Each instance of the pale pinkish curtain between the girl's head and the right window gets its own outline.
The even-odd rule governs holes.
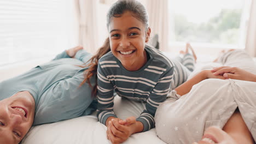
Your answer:
[[[168,1],[141,0],[149,15],[150,37],[159,35],[160,50],[168,50]]]

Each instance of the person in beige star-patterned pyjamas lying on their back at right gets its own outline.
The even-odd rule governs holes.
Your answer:
[[[155,127],[160,139],[186,144],[254,143],[255,62],[241,50],[223,53],[219,62],[225,67],[201,71],[159,106]]]

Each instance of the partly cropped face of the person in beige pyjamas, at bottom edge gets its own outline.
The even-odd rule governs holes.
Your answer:
[[[217,127],[209,127],[206,129],[202,140],[199,142],[194,142],[193,144],[237,144],[237,142],[225,131]]]

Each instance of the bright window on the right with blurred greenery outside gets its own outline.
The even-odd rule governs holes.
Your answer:
[[[250,1],[170,0],[170,45],[245,48]]]

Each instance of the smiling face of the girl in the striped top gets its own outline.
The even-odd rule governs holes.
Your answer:
[[[121,64],[130,71],[143,67],[147,62],[145,43],[148,42],[150,28],[126,11],[121,17],[112,17],[109,27],[110,49]]]

